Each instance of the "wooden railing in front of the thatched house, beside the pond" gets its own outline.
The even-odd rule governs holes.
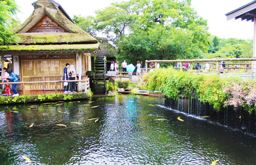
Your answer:
[[[25,84],[42,84],[42,83],[52,83],[54,84],[54,90],[55,93],[57,93],[58,90],[58,83],[63,83],[63,82],[84,82],[85,86],[85,92],[90,90],[90,78],[87,78],[85,80],[67,80],[67,81],[38,81],[38,82],[0,82],[0,85],[5,85],[5,84],[21,84],[22,85],[22,91],[23,94],[25,93]]]

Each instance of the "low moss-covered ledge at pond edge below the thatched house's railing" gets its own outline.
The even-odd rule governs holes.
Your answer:
[[[90,98],[90,92],[68,93],[68,94],[57,93],[57,94],[40,94],[40,95],[21,95],[16,97],[0,97],[0,104],[18,104],[18,103],[87,99],[87,98]]]

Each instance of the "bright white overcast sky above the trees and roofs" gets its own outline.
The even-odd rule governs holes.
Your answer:
[[[33,12],[31,5],[36,0],[16,0],[20,13],[17,17],[24,22]],[[113,2],[120,0],[55,0],[71,18],[74,15],[95,16],[96,10],[104,9]],[[229,20],[227,14],[253,0],[192,0],[192,7],[200,17],[208,21],[209,32],[219,38],[253,38],[253,22],[246,20]],[[99,36],[101,37],[101,36]]]

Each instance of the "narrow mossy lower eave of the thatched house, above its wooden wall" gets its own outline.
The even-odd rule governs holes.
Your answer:
[[[61,44],[61,45],[10,45],[0,46],[0,51],[44,51],[44,50],[97,50],[99,44]]]

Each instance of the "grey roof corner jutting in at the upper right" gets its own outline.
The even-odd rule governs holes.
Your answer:
[[[231,20],[233,18],[246,21],[254,21],[254,16],[256,16],[256,0],[239,7],[238,9],[231,11],[226,14],[227,20]]]

